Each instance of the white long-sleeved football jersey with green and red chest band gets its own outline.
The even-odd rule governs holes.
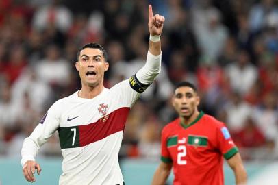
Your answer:
[[[145,65],[138,71],[140,80],[134,75],[110,89],[104,88],[92,99],[80,98],[75,92],[56,101],[25,139],[21,164],[35,160],[38,148],[57,130],[64,158],[60,185],[123,184],[118,151],[125,122],[140,93],[160,72],[161,56],[148,54],[148,58],[153,59],[153,66]]]

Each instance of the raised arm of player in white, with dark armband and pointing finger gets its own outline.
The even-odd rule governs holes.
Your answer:
[[[164,16],[160,16],[159,14],[153,16],[153,10],[151,5],[149,5],[148,27],[150,40],[146,63],[136,74],[131,76],[128,81],[123,81],[123,84],[125,84],[124,86],[121,86],[121,83],[119,83],[113,87],[114,89],[120,89],[116,90],[116,92],[121,92],[119,94],[119,99],[125,101],[124,103],[127,106],[132,106],[140,96],[140,93],[143,93],[160,73],[162,58],[160,35],[162,34],[164,21]],[[133,90],[131,90],[130,87]]]

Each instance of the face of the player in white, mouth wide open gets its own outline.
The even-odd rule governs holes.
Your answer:
[[[97,48],[85,48],[81,50],[78,62],[75,63],[83,85],[94,87],[103,84],[104,72],[109,64],[105,62],[103,52]]]

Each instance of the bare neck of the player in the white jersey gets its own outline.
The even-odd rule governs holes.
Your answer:
[[[78,97],[92,99],[99,95],[104,89],[103,84],[99,84],[98,86],[90,87],[90,86],[82,86],[81,90],[78,92]]]

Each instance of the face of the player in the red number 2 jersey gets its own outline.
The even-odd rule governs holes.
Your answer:
[[[172,98],[172,105],[179,114],[189,119],[192,114],[197,111],[200,98],[197,93],[188,86],[181,86],[175,90]]]

